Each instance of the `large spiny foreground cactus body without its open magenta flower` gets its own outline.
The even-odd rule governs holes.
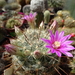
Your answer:
[[[20,73],[22,75],[53,75],[55,71],[53,67],[58,67],[60,58],[55,54],[46,53],[47,48],[44,48],[45,43],[40,38],[49,38],[48,33],[38,29],[27,29],[22,33],[19,28],[16,27],[15,29],[17,39],[10,39],[10,43],[22,53],[18,55],[18,58],[13,57],[15,75],[21,75]],[[21,68],[17,70],[20,66]]]

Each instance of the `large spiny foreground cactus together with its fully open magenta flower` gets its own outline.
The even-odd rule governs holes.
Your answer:
[[[42,27],[43,26],[41,25],[41,28]],[[13,46],[17,46],[17,49],[14,47],[14,49],[16,50],[15,52],[17,52],[17,50],[19,51],[19,53],[15,53],[15,56],[17,59],[14,59],[15,57],[13,58],[14,59],[13,63],[15,64],[16,75],[18,74],[21,75],[21,73],[22,75],[26,75],[26,74],[28,75],[37,75],[37,74],[38,75],[50,75],[52,74],[53,75],[54,71],[59,68],[58,66],[60,62],[59,57],[61,57],[61,54],[59,53],[60,50],[58,50],[58,52],[55,52],[57,50],[55,49],[54,52],[53,50],[51,50],[51,52],[49,51],[49,53],[47,53],[48,51],[47,48],[52,49],[52,47],[46,46],[47,48],[45,48],[44,46],[46,44],[43,41],[48,43],[48,45],[51,45],[50,42],[55,37],[54,39],[56,42],[54,42],[54,44],[56,47],[59,47],[61,44],[65,45],[67,42],[71,44],[72,42],[66,41],[67,39],[69,39],[69,37],[64,36],[64,32],[61,32],[60,34],[57,34],[57,32],[55,34],[52,34],[52,33],[49,34],[49,32],[47,32],[46,30],[42,30],[41,28],[39,27],[39,29],[26,29],[24,30],[24,32],[22,32],[18,27],[15,27],[15,33],[17,35],[17,38],[10,39],[10,43]],[[59,36],[61,34],[62,36]],[[49,40],[42,39],[43,40],[42,41],[40,38],[46,38]],[[57,40],[58,38],[59,39],[62,38],[60,40],[61,44]],[[62,43],[62,40],[64,40],[63,43]],[[54,40],[52,40],[52,42],[53,41]],[[72,47],[69,44],[66,45],[68,46],[66,47],[68,48],[66,51],[70,51],[74,49],[74,47]],[[5,45],[5,49],[7,50],[6,46],[7,45]],[[10,50],[12,48],[8,48],[8,49]],[[71,53],[67,52],[66,55],[72,57]],[[19,67],[21,68],[19,69]]]

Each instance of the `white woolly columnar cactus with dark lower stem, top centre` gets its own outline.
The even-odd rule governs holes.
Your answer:
[[[36,16],[36,27],[38,28],[40,23],[44,21],[43,11],[47,9],[46,0],[31,0],[30,9],[32,12],[37,12]]]

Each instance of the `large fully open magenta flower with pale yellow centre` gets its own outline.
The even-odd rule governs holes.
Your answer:
[[[56,31],[55,34],[50,31],[50,39],[42,38],[42,40],[47,43],[46,48],[50,49],[48,53],[56,53],[59,57],[61,57],[62,54],[73,57],[69,51],[75,48],[71,45],[73,41],[70,41],[70,38],[71,35],[64,36],[64,31],[60,33]]]

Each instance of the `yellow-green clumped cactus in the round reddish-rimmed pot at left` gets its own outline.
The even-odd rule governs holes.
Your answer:
[[[20,20],[14,19],[14,18],[10,18],[10,19],[8,19],[5,27],[7,29],[9,29],[9,28],[14,28],[14,26],[20,26],[20,25],[21,25]]]

